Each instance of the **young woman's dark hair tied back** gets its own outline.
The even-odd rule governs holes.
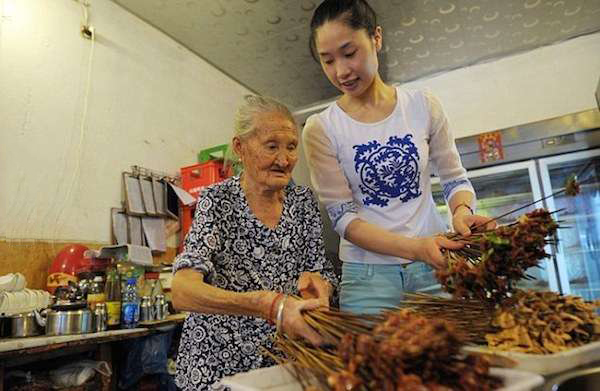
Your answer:
[[[310,54],[319,62],[315,38],[316,31],[325,22],[339,19],[354,30],[365,29],[369,36],[375,34],[377,14],[365,0],[325,0],[313,13],[310,21]]]

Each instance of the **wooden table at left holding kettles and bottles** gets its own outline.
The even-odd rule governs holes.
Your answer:
[[[165,320],[144,324],[135,329],[107,330],[99,333],[77,335],[0,339],[0,391],[4,391],[6,368],[88,351],[95,351],[95,359],[106,361],[111,367],[113,377],[106,390],[114,390],[116,389],[116,371],[113,368],[112,344],[160,332],[166,326],[183,322],[185,317],[186,314],[169,315]]]

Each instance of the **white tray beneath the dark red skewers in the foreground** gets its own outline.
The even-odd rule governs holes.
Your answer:
[[[504,380],[500,391],[529,391],[544,383],[535,373],[514,369],[492,368],[490,373]],[[221,380],[231,391],[303,391],[298,381],[281,365],[238,373]]]

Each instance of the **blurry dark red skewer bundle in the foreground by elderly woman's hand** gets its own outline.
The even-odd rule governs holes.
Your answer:
[[[456,326],[400,309],[380,316],[310,311],[306,321],[330,341],[313,347],[278,336],[277,348],[305,390],[494,390],[489,362],[463,355]]]

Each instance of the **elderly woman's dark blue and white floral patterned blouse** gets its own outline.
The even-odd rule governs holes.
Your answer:
[[[305,271],[335,285],[321,231],[317,202],[307,187],[286,187],[281,218],[271,229],[250,210],[240,178],[232,177],[202,192],[174,272],[192,268],[213,286],[234,292],[297,295]],[[191,313],[177,355],[177,386],[209,390],[224,376],[274,365],[260,353],[261,346],[272,348],[274,332],[262,318]]]

